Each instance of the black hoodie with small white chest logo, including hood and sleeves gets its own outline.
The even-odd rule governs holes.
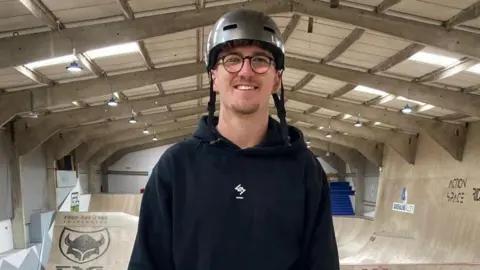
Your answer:
[[[338,270],[325,172],[289,135],[286,147],[269,118],[263,142],[242,150],[203,117],[152,171],[128,269]]]

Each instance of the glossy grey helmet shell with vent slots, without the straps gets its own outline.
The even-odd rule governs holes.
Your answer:
[[[276,23],[262,12],[239,9],[223,15],[210,31],[204,52],[207,70],[213,68],[223,46],[235,40],[257,41],[274,55],[276,68],[284,68],[285,45]]]

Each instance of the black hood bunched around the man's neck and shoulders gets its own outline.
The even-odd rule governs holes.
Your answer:
[[[214,125],[218,124],[218,117],[214,117]],[[280,123],[269,116],[268,127],[265,138],[258,145],[247,149],[241,149],[227,138],[223,137],[215,128],[215,132],[208,126],[208,116],[202,116],[198,123],[197,130],[193,133],[193,137],[200,140],[200,143],[207,143],[211,146],[232,149],[234,151],[242,151],[246,154],[253,155],[278,155],[293,153],[307,149],[303,133],[292,126],[288,126],[288,134],[290,136],[290,146],[287,146],[282,140]]]

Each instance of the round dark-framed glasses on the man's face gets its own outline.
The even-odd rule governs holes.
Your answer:
[[[273,59],[264,55],[240,56],[237,54],[228,54],[220,57],[220,62],[226,71],[230,73],[239,72],[243,68],[245,59],[249,59],[250,67],[255,73],[263,74],[268,71],[272,65]]]

